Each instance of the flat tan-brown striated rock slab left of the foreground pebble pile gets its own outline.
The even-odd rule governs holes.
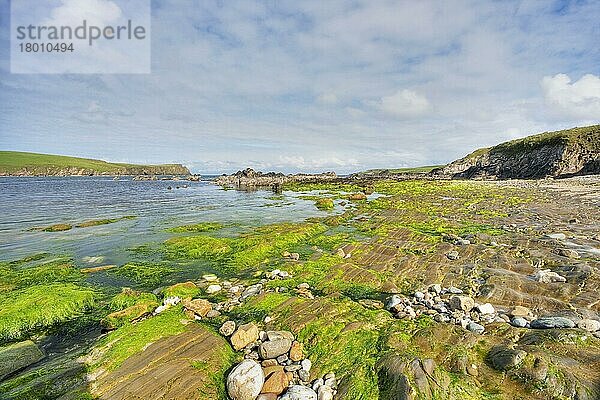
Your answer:
[[[191,400],[218,398],[211,373],[221,370],[229,344],[200,324],[161,339],[127,359],[93,385],[93,394],[110,400]],[[194,368],[192,363],[205,367]]]

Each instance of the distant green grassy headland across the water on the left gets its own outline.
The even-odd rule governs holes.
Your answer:
[[[0,151],[0,175],[189,175],[180,164],[136,165],[88,158]]]

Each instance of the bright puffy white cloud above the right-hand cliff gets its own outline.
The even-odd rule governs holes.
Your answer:
[[[570,117],[600,119],[600,77],[587,74],[571,82],[566,74],[545,76],[542,90],[546,103]]]

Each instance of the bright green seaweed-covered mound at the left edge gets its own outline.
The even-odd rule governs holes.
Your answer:
[[[72,283],[35,285],[0,299],[0,342],[73,319],[94,304],[94,291]]]

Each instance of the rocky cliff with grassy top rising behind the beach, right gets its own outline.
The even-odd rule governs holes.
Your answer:
[[[479,149],[432,174],[469,179],[600,174],[600,125],[546,132]]]

